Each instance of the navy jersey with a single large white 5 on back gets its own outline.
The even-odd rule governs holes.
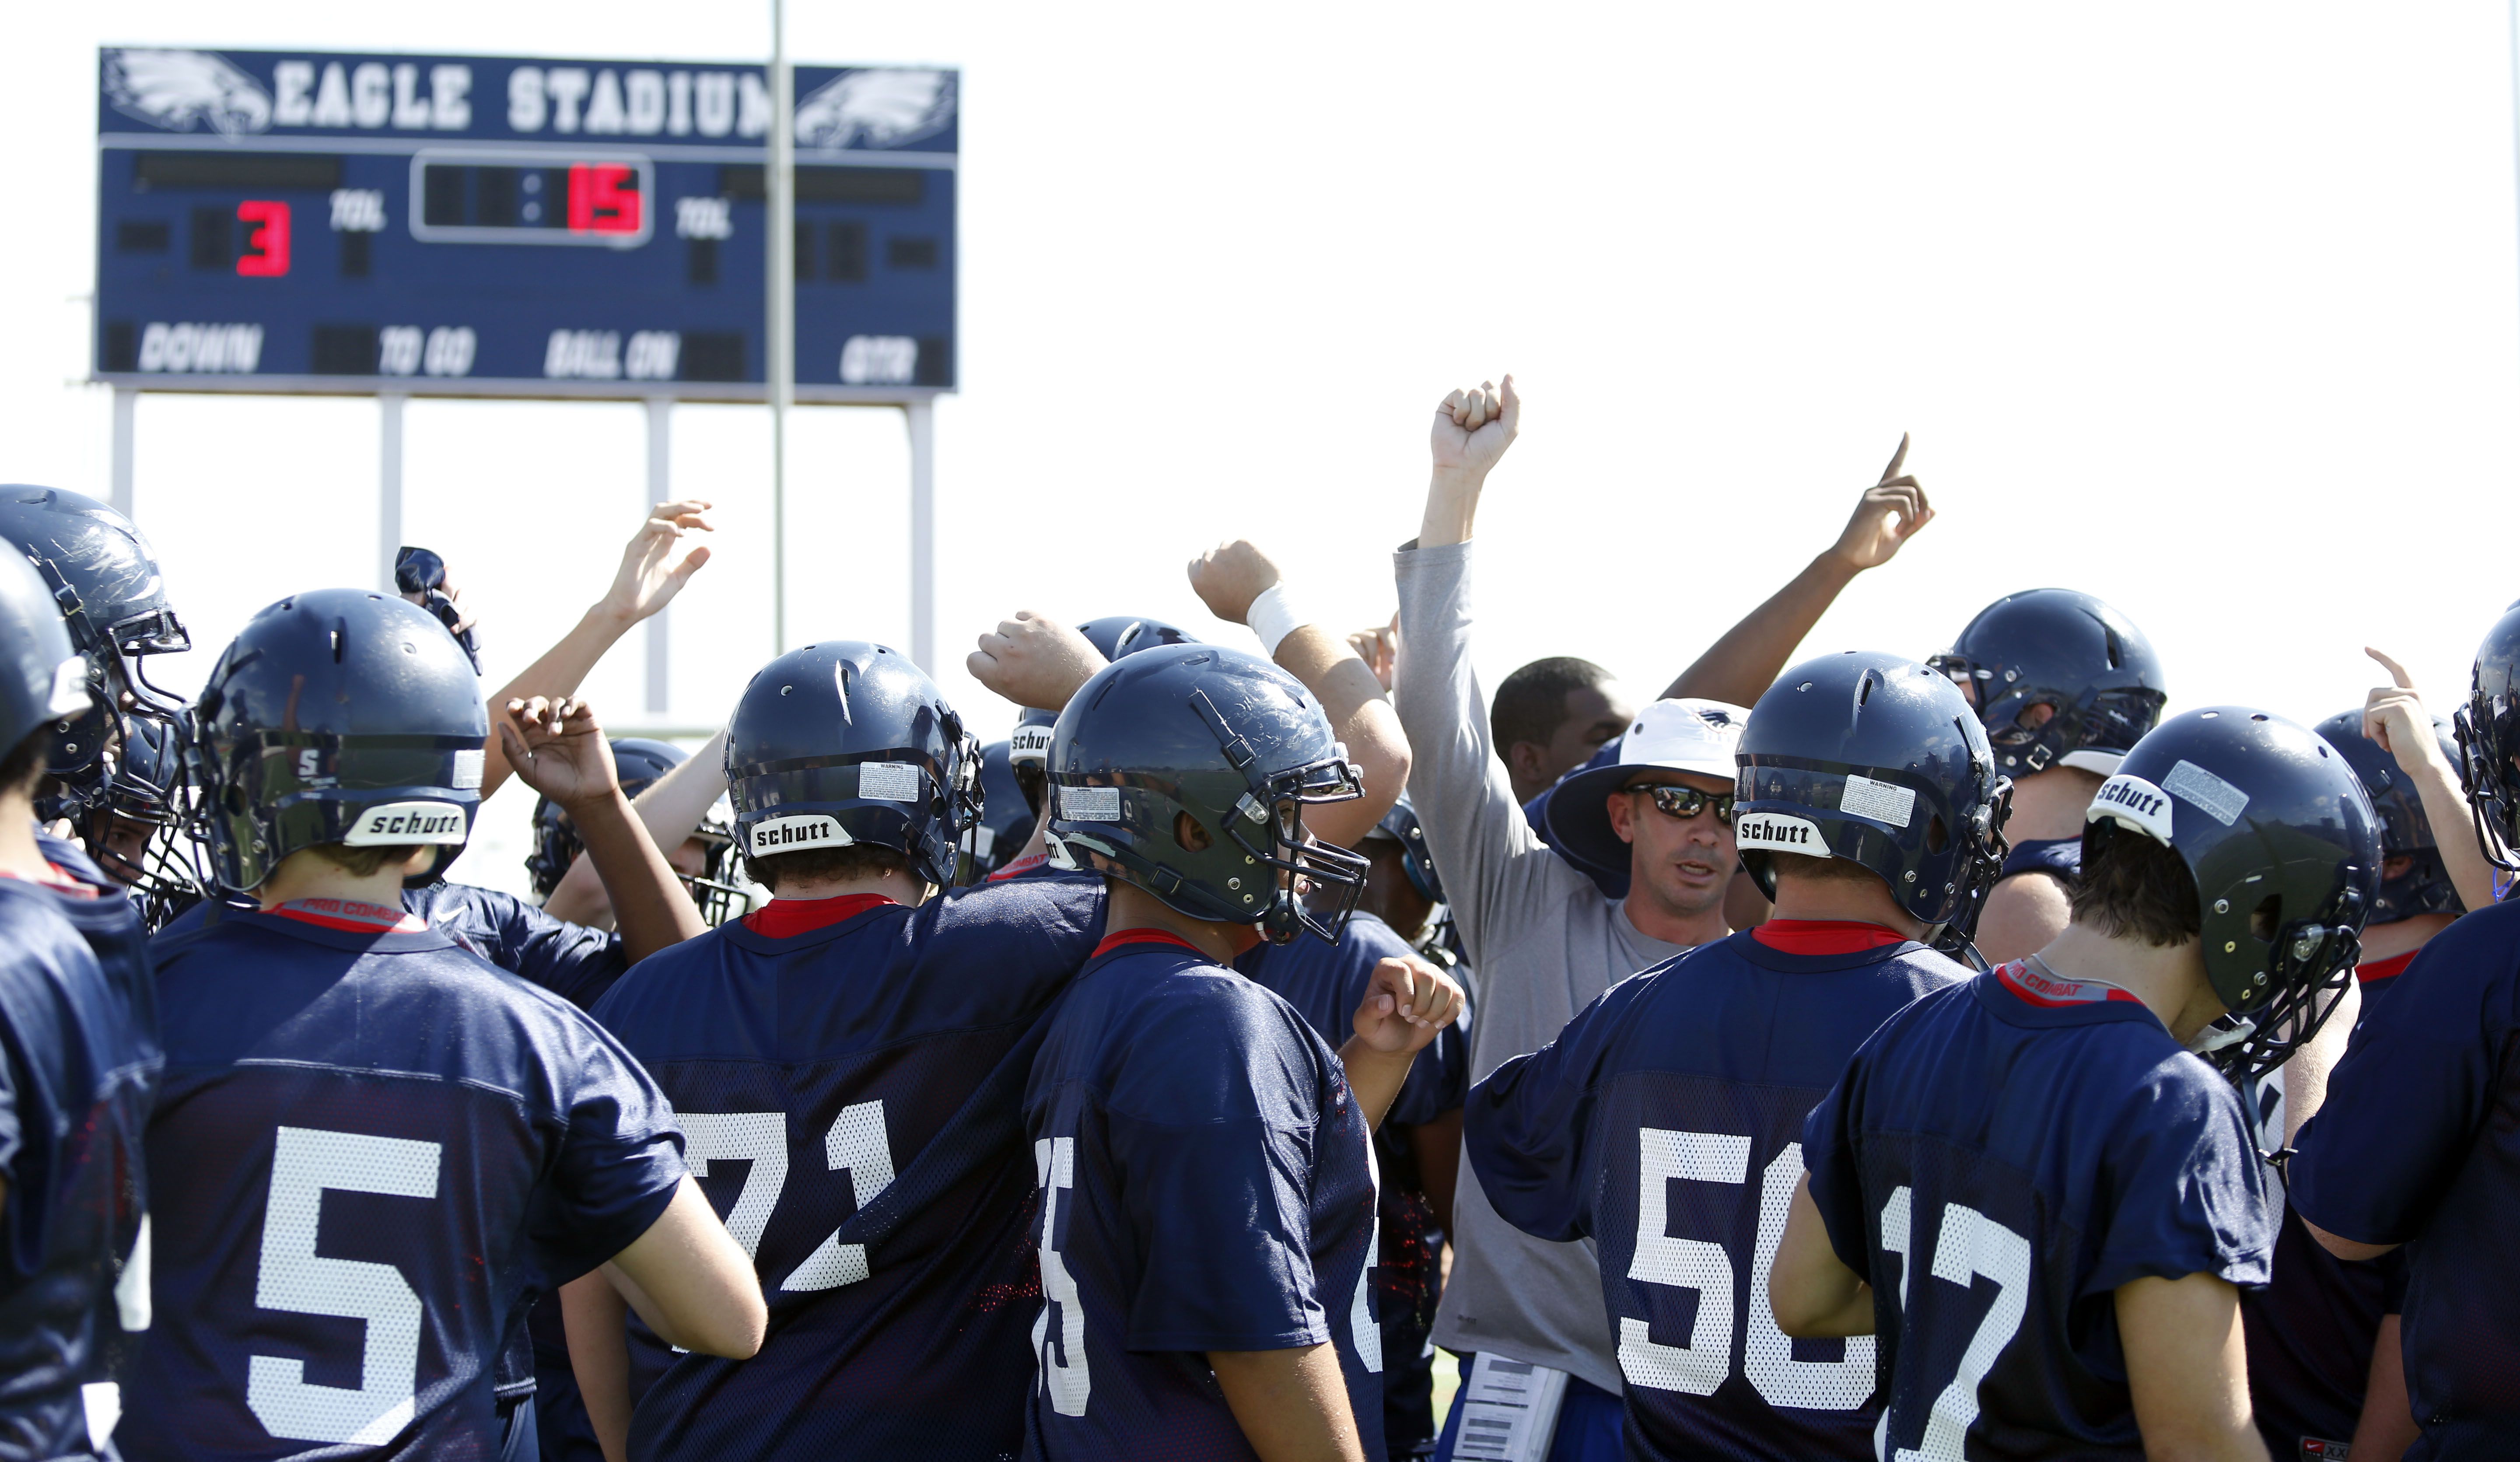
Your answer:
[[[219,910],[159,935],[156,1326],[129,1457],[466,1457],[524,1306],[683,1177],[595,1021],[444,933]]]

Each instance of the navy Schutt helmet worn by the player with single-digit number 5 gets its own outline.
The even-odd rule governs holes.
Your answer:
[[[315,590],[257,613],[194,706],[192,766],[219,887],[292,852],[433,844],[436,877],[481,807],[489,713],[446,625],[396,595]]]

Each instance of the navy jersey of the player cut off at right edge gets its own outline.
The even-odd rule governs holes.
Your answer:
[[[2432,935],[2354,1028],[2291,1165],[2301,1217],[2407,1245],[2407,1457],[2520,1452],[2520,907]]]

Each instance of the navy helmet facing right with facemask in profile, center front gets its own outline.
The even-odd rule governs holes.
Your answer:
[[[1366,860],[1303,829],[1308,802],[1363,776],[1293,676],[1222,645],[1162,645],[1104,665],[1051,731],[1051,862],[1124,877],[1217,923],[1338,943]],[[1205,832],[1184,847],[1179,819]],[[1305,905],[1303,885],[1328,912]]]

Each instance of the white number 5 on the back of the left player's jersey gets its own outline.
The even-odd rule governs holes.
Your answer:
[[[252,1356],[244,1404],[272,1437],[381,1447],[411,1424],[421,1384],[421,1296],[391,1263],[320,1258],[323,1190],[438,1195],[438,1144],[282,1127],[262,1212],[255,1303],[300,1316],[368,1321],[358,1389],[307,1384],[302,1359]]]

